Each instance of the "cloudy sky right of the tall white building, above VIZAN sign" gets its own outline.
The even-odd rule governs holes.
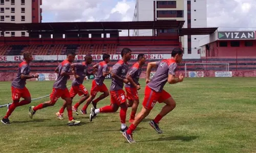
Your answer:
[[[249,27],[255,30],[255,10],[255,0],[208,0],[207,25],[225,31],[252,30]]]

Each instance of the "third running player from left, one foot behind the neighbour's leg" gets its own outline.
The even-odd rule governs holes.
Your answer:
[[[95,71],[93,71],[92,73],[88,72],[88,67],[89,67],[90,64],[92,64],[93,57],[91,55],[87,55],[84,58],[84,61],[85,62],[71,64],[71,67],[73,69],[73,73],[75,75],[75,79],[72,82],[72,87],[70,89],[70,96],[73,99],[76,96],[76,94],[78,94],[79,96],[82,95],[81,99],[72,107],[72,110],[76,113],[76,115],[78,115],[78,112],[77,112],[78,107],[86,99],[88,99],[90,97],[89,92],[82,85],[83,80],[86,76],[90,76],[90,75],[93,75],[95,73]],[[63,112],[66,108],[66,105],[67,104],[66,104],[66,101],[65,101],[63,103],[63,106],[59,110],[59,112],[56,113],[56,115],[58,116],[58,118],[60,120],[63,119]]]

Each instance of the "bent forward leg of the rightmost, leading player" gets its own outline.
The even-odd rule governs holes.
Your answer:
[[[162,133],[162,130],[159,127],[159,121],[170,111],[172,111],[176,107],[176,102],[173,99],[172,96],[170,96],[169,93],[167,93],[165,90],[162,91],[161,96],[159,98],[159,103],[164,103],[166,104],[161,112],[155,117],[154,120],[150,122],[150,125],[159,133]]]

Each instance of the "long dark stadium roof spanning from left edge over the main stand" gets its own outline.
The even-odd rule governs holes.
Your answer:
[[[0,31],[181,29],[185,21],[0,23]]]

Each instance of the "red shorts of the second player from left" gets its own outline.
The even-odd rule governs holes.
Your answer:
[[[50,95],[50,99],[52,102],[56,103],[56,101],[61,97],[62,99],[64,98],[70,98],[69,90],[68,88],[66,89],[52,89],[52,93]]]

